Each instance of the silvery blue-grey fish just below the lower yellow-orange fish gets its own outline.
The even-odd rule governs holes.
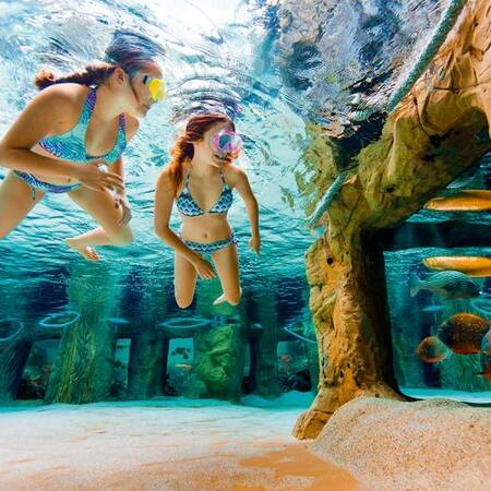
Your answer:
[[[458,271],[442,271],[427,279],[420,279],[414,275],[409,283],[409,290],[411,297],[420,290],[429,290],[446,300],[476,298],[481,295],[479,285]]]

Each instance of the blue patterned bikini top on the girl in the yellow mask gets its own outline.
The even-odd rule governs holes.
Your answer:
[[[39,146],[50,154],[63,158],[64,160],[88,163],[91,160],[106,160],[107,164],[113,164],[123,153],[127,146],[127,136],[124,131],[124,115],[118,117],[118,136],[115,146],[106,155],[93,157],[85,151],[85,133],[96,103],[97,87],[92,87],[82,108],[79,122],[70,131],[55,136],[47,136],[39,140]]]

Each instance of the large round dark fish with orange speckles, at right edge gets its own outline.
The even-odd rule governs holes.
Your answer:
[[[458,355],[481,351],[482,337],[491,327],[491,322],[476,314],[458,313],[442,323],[436,337]]]

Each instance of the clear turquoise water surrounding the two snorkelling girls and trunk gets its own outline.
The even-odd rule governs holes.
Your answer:
[[[117,28],[144,33],[161,46],[168,85],[167,101],[152,109],[125,154],[134,243],[104,248],[99,264],[76,256],[64,239],[94,224],[56,194],[0,241],[0,399],[85,403],[183,395],[239,400],[251,394],[266,399],[294,391],[316,394],[328,360],[320,361],[304,254],[316,240],[308,216],[325,192],[312,185],[323,152],[330,152],[321,129],[349,137],[352,108],[388,98],[445,4],[369,2],[357,12],[346,2],[327,3],[306,2],[297,15],[295,2],[287,0],[168,1],[165,12],[157,1],[82,2],[76,12],[65,1],[0,2],[0,134],[34,96],[34,73],[43,67],[71,71],[100,58]],[[218,279],[199,282],[195,300],[182,311],[173,299],[172,250],[153,231],[154,190],[187,115],[211,109],[233,117],[244,142],[239,165],[260,203],[262,252],[255,258],[247,249],[248,215],[237,200],[229,220],[239,239],[242,301],[236,308],[213,307]],[[380,121],[363,127],[349,141],[347,155],[379,132]],[[488,157],[475,168],[474,185],[489,189],[490,171]],[[0,167],[0,179],[5,176]],[[458,182],[447,191],[455,189]],[[486,227],[490,215],[423,209],[407,223],[447,219],[464,228]],[[175,209],[171,227],[178,224]],[[470,301],[412,298],[408,279],[416,270],[430,274],[421,270],[428,255],[489,258],[491,250],[441,248],[438,233],[424,247],[410,235],[400,240],[404,246],[385,253],[397,383],[416,396],[418,388],[421,396],[431,388],[435,395],[459,391],[462,400],[489,402],[491,382],[478,374],[478,354],[436,364],[416,356],[421,339],[434,335],[446,318],[489,312],[489,277],[477,280],[483,290],[479,311]],[[438,309],[424,311],[432,306]],[[63,360],[69,352],[84,359],[87,346],[96,352],[91,391],[84,392],[82,381],[63,387],[70,370],[85,376],[80,362],[72,360],[69,369]],[[214,388],[203,393],[206,376]]]

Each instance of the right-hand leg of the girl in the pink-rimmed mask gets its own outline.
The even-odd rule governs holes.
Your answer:
[[[224,249],[219,249],[212,253],[213,262],[220,278],[221,289],[224,290],[213,304],[228,301],[232,306],[238,306],[242,289],[239,279],[239,258],[237,254],[237,246],[230,243]]]

